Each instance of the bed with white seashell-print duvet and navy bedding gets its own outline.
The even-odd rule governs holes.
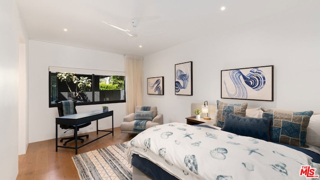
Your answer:
[[[216,109],[218,116],[218,102]],[[221,124],[217,126],[217,118],[214,123],[210,121],[200,125],[166,123],[137,134],[127,143],[125,151],[128,161],[133,165],[133,179],[318,179],[320,148],[318,139],[312,136],[312,131],[319,130],[319,126],[314,124],[314,121],[318,123],[318,117],[312,120],[310,117],[313,112],[310,115],[309,111],[293,113],[303,116],[299,123],[302,127],[305,126],[305,119],[312,124],[308,129],[300,129],[299,135],[304,140],[292,137],[287,141],[290,135],[282,138],[280,134],[280,142],[274,142],[274,138],[278,137],[272,135],[278,129],[276,121],[279,119],[276,116],[285,116],[287,112],[254,108],[251,112],[254,111],[255,115],[252,115],[248,109],[245,107],[246,113],[242,115],[223,112],[222,127]],[[245,117],[246,114],[257,117]],[[267,117],[268,114],[273,117]],[[268,124],[261,125],[261,121]],[[242,125],[241,128],[245,130],[237,132],[239,128],[234,130],[231,122],[236,127]],[[280,129],[285,130],[284,127]],[[311,144],[304,134],[307,130],[310,131]]]

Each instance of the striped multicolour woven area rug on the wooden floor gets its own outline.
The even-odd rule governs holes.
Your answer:
[[[72,156],[81,180],[132,179],[132,167],[123,154],[126,142]]]

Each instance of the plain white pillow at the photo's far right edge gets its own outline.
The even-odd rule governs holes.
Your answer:
[[[320,147],[320,114],[310,117],[309,125],[306,127],[306,143]]]

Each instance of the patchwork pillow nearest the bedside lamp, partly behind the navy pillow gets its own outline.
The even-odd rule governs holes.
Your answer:
[[[224,122],[224,114],[229,112],[235,115],[245,116],[245,110],[248,103],[244,102],[241,104],[228,104],[220,100],[216,100],[216,126],[222,127]]]

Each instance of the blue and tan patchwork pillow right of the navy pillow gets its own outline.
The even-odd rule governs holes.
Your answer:
[[[270,117],[271,141],[296,146],[305,145],[306,128],[309,124],[312,110],[303,112],[282,111],[261,107],[262,117]]]

